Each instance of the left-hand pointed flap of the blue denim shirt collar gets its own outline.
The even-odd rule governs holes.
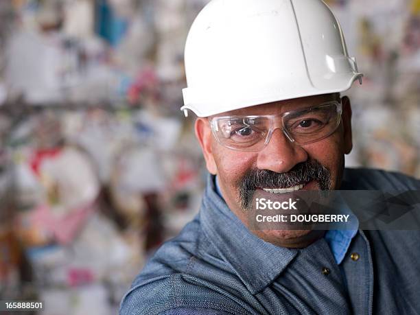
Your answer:
[[[253,235],[218,195],[213,175],[207,178],[200,221],[204,233],[252,294],[274,281],[299,252]]]

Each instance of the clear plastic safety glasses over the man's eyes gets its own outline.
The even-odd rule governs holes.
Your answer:
[[[330,101],[281,115],[225,116],[209,119],[215,139],[238,151],[264,150],[276,129],[298,145],[320,141],[340,125],[342,104]]]

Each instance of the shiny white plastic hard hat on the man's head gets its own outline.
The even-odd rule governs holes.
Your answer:
[[[213,0],[185,45],[184,106],[198,117],[362,83],[321,0]]]

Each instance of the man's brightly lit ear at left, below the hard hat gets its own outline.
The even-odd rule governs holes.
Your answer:
[[[200,143],[202,154],[206,160],[207,170],[210,174],[217,174],[218,168],[216,167],[214,156],[213,156],[213,135],[211,134],[211,128],[209,126],[209,121],[206,118],[197,118],[196,119],[196,137]]]

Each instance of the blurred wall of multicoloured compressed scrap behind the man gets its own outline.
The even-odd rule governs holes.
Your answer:
[[[1,300],[116,314],[194,218],[207,173],[179,108],[207,2],[0,1]],[[420,178],[420,0],[327,2],[366,74],[347,166]]]

